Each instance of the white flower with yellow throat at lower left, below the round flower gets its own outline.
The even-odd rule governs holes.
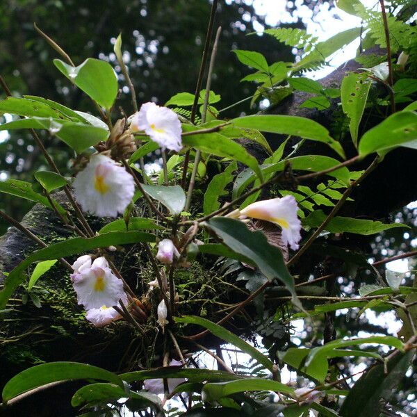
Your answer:
[[[84,268],[71,278],[78,302],[86,310],[115,306],[120,299],[126,300],[122,280],[113,275],[102,256],[92,263],[91,268]]]

